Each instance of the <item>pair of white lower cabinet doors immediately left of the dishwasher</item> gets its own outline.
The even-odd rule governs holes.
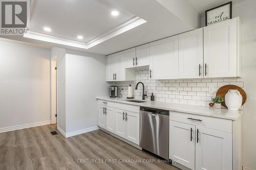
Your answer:
[[[116,109],[115,134],[131,142],[139,144],[140,114]]]

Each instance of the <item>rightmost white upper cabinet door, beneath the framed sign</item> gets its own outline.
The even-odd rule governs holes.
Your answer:
[[[239,77],[239,18],[204,27],[204,77]]]

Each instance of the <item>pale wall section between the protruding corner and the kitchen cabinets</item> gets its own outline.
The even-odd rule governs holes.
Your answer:
[[[108,95],[105,56],[67,51],[66,133],[97,126],[96,96]]]

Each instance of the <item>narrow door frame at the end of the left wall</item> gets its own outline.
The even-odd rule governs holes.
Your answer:
[[[57,118],[57,72],[55,75],[55,67],[57,67],[57,55],[51,58],[51,124],[56,124]],[[57,71],[57,70],[56,70]]]

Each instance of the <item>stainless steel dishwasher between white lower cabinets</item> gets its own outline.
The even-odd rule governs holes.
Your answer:
[[[169,159],[169,111],[140,108],[140,147]]]

